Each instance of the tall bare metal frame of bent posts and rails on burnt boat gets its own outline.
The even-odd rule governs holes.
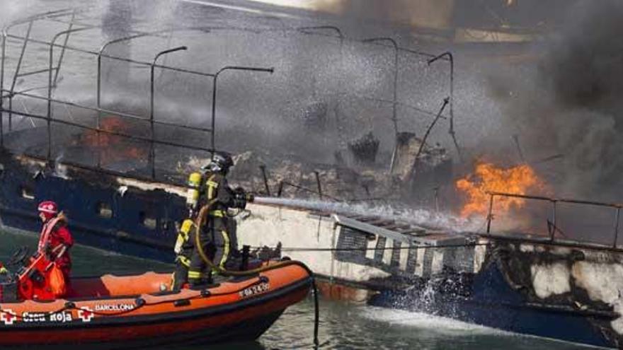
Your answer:
[[[125,137],[127,139],[133,139],[136,141],[144,141],[144,142],[149,142],[150,146],[150,153],[149,153],[149,165],[151,168],[151,172],[152,172],[152,179],[155,179],[156,177],[156,170],[155,170],[155,155],[154,155],[154,144],[155,145],[164,145],[164,146],[176,146],[176,147],[181,147],[181,148],[185,148],[185,149],[189,149],[189,150],[195,150],[195,151],[205,151],[205,152],[214,152],[216,145],[215,145],[215,132],[216,132],[216,128],[215,128],[215,104],[216,104],[216,81],[217,81],[217,76],[221,71],[224,71],[226,69],[237,69],[237,70],[248,70],[248,71],[270,71],[272,72],[272,69],[268,69],[268,68],[263,68],[263,67],[241,67],[241,66],[225,66],[223,69],[217,71],[217,73],[210,73],[210,72],[205,72],[205,71],[196,71],[193,69],[185,69],[185,68],[180,68],[180,67],[175,67],[175,66],[168,66],[166,64],[157,64],[156,59],[157,57],[159,57],[160,54],[163,53],[168,53],[168,52],[173,52],[176,51],[177,49],[182,49],[182,47],[178,47],[176,49],[168,49],[165,50],[165,52],[160,52],[158,55],[156,55],[156,57],[154,57],[154,60],[152,62],[144,62],[144,61],[140,61],[137,59],[131,59],[128,57],[118,57],[115,56],[113,54],[108,54],[106,53],[106,48],[109,47],[110,45],[113,45],[115,43],[119,43],[119,42],[129,42],[130,40],[135,40],[139,37],[164,37],[164,35],[171,35],[171,33],[173,32],[178,32],[178,31],[184,31],[184,30],[190,30],[190,31],[200,31],[200,32],[204,32],[204,33],[211,33],[211,32],[215,32],[215,31],[231,31],[231,30],[238,30],[238,31],[244,31],[244,32],[248,32],[248,33],[267,33],[267,32],[278,32],[278,31],[282,31],[282,33],[284,33],[284,35],[288,35],[290,33],[295,33],[298,35],[319,35],[319,36],[326,36],[326,37],[332,37],[332,38],[337,38],[339,40],[339,50],[340,50],[340,57],[343,56],[342,52],[343,52],[343,45],[345,42],[352,42],[352,43],[357,43],[359,45],[377,45],[377,46],[382,46],[382,47],[391,47],[392,49],[395,50],[396,52],[396,59],[394,60],[394,77],[396,76],[396,71],[397,71],[397,64],[398,64],[398,58],[397,58],[397,53],[398,52],[404,52],[406,54],[411,54],[411,55],[416,55],[418,57],[422,57],[425,60],[430,60],[430,59],[442,59],[442,60],[447,60],[448,62],[452,63],[451,59],[448,59],[447,57],[449,55],[447,54],[442,54],[441,56],[436,56],[435,54],[429,54],[427,52],[421,52],[418,51],[416,49],[408,49],[408,48],[404,48],[404,47],[399,47],[399,45],[397,45],[397,43],[394,40],[386,40],[387,38],[372,38],[372,39],[353,39],[353,38],[349,38],[349,37],[345,37],[345,35],[343,35],[342,31],[340,30],[340,28],[336,27],[336,26],[332,26],[332,25],[317,25],[317,26],[305,26],[305,27],[295,27],[295,28],[289,28],[285,26],[285,23],[282,23],[282,28],[245,28],[245,27],[236,27],[236,26],[229,26],[229,25],[224,25],[224,26],[195,26],[195,27],[176,27],[176,28],[168,28],[168,29],[164,29],[164,30],[154,30],[154,31],[144,31],[144,30],[135,30],[134,28],[128,29],[127,30],[127,35],[123,36],[123,37],[116,37],[112,40],[108,40],[107,42],[104,42],[100,49],[98,50],[93,50],[93,49],[85,49],[83,47],[77,47],[75,45],[70,45],[69,44],[69,37],[74,34],[74,33],[78,33],[78,32],[86,32],[88,30],[96,30],[96,29],[101,29],[102,25],[99,24],[93,24],[90,23],[88,21],[88,19],[83,19],[81,18],[81,10],[76,10],[76,9],[64,9],[64,10],[59,10],[59,11],[51,11],[51,12],[47,12],[47,13],[42,13],[39,15],[35,15],[35,16],[30,16],[28,18],[23,18],[21,20],[18,21],[14,21],[12,23],[9,23],[8,25],[6,25],[3,29],[2,29],[2,33],[1,33],[1,65],[0,65],[0,147],[4,147],[4,127],[5,127],[5,114],[8,116],[8,131],[11,132],[12,128],[13,128],[13,115],[19,115],[21,117],[29,117],[32,119],[40,119],[43,120],[46,124],[47,124],[47,154],[46,154],[46,158],[48,162],[51,162],[53,160],[53,155],[52,155],[52,124],[64,124],[67,125],[69,127],[78,127],[81,129],[86,129],[86,130],[90,130],[92,132],[96,132],[98,139],[100,139],[101,134],[110,134],[113,136],[119,136],[119,137]],[[88,18],[88,17],[85,17]],[[36,21],[52,21],[55,23],[59,23],[60,25],[66,25],[66,29],[59,31],[58,33],[55,33],[55,35],[53,35],[51,40],[42,40],[40,38],[35,38],[35,37],[31,37],[31,29],[33,28],[33,23],[35,23]],[[28,28],[25,30],[25,34],[15,34],[12,33],[11,30],[13,28],[15,28],[18,25],[28,25]],[[381,40],[382,39],[382,40]],[[17,64],[15,66],[15,71],[14,74],[11,78],[11,82],[10,85],[7,86],[5,88],[4,86],[4,79],[5,79],[5,75],[6,75],[6,47],[7,47],[7,41],[8,40],[21,40],[21,52],[18,56],[17,59]],[[391,42],[392,45],[387,45],[387,42]],[[23,58],[26,52],[26,46],[29,44],[37,44],[37,45],[44,45],[46,47],[48,47],[49,49],[49,54],[48,54],[48,62],[47,62],[47,67],[43,68],[43,67],[38,67],[38,69],[35,69],[33,71],[22,71],[23,70]],[[59,52],[55,53],[55,50],[59,50]],[[91,57],[96,57],[97,59],[97,90],[96,90],[96,106],[92,107],[92,106],[88,106],[88,105],[84,105],[84,104],[80,104],[80,103],[76,103],[74,101],[69,101],[69,100],[62,100],[60,98],[55,98],[54,97],[54,92],[55,89],[57,88],[57,83],[59,80],[59,71],[61,71],[62,69],[62,63],[64,60],[64,57],[66,56],[66,52],[67,51],[73,51],[73,52],[79,52],[81,54],[87,54],[90,55]],[[56,58],[55,58],[56,56]],[[113,60],[115,62],[125,62],[125,63],[129,63],[129,64],[135,64],[135,65],[139,65],[139,66],[148,66],[151,67],[152,70],[152,93],[150,95],[150,99],[152,100],[151,103],[151,110],[149,113],[149,117],[144,117],[144,116],[140,116],[140,115],[135,115],[135,114],[131,114],[131,113],[125,113],[125,112],[119,112],[119,111],[115,111],[112,110],[110,108],[104,108],[101,104],[101,94],[102,94],[102,86],[101,86],[101,80],[102,80],[102,67],[101,67],[101,59],[102,58],[106,58],[106,59],[110,59]],[[340,59],[341,61],[343,60],[343,58]],[[338,64],[340,66],[343,65],[343,62],[338,62]],[[206,118],[207,119],[207,123],[208,125],[210,125],[210,127],[196,127],[196,126],[188,126],[188,125],[184,125],[184,124],[178,124],[175,122],[164,122],[164,121],[160,121],[157,119],[154,119],[154,110],[153,110],[153,98],[154,98],[154,88],[153,88],[153,84],[154,84],[154,73],[153,70],[154,68],[158,68],[158,69],[163,69],[163,70],[169,70],[169,71],[175,71],[175,72],[179,72],[179,73],[183,73],[183,74],[190,74],[193,76],[198,76],[200,78],[207,78],[208,81],[212,81],[212,115],[210,115],[210,117]],[[388,67],[389,69],[390,67]],[[450,65],[450,72],[451,72],[451,76],[450,76],[450,83],[452,85],[452,64]],[[21,91],[16,91],[16,81],[18,80],[18,78],[25,78],[25,77],[32,77],[32,76],[36,76],[38,74],[47,74],[47,84],[45,86],[35,86],[35,87],[30,87],[30,88],[25,88]],[[395,80],[395,79],[394,79]],[[38,95],[35,92],[38,90],[47,90],[47,96],[43,96],[43,95]],[[346,89],[341,86],[341,90],[345,91]],[[450,93],[452,93],[452,86],[450,86]],[[412,107],[409,106],[406,103],[401,103],[399,101],[396,100],[396,83],[394,81],[394,98],[392,98],[391,100],[382,100],[382,99],[377,99],[377,102],[382,102],[382,103],[387,103],[389,105],[391,105],[394,109],[394,115],[391,118],[391,122],[394,124],[394,129],[397,130],[397,126],[396,126],[396,105],[401,105],[404,107],[411,107],[412,110],[415,110],[416,112],[422,112],[421,109],[419,109],[418,107]],[[41,100],[42,103],[46,103],[47,107],[46,107],[46,112],[45,114],[40,114],[40,113],[35,113],[35,112],[30,112],[28,110],[26,110],[24,108],[24,110],[17,110],[16,108],[13,107],[13,103],[15,103],[15,101],[18,98],[22,98],[22,99],[36,99],[36,100]],[[360,96],[357,96],[357,98],[361,98]],[[451,100],[452,101],[452,100]],[[22,103],[23,105],[23,100],[20,101],[20,103]],[[451,102],[452,103],[452,102]],[[96,118],[97,118],[97,122],[96,125],[93,127],[91,125],[85,125],[85,124],[80,124],[74,121],[69,121],[66,119],[62,119],[62,118],[57,118],[55,117],[54,114],[54,108],[53,105],[61,105],[64,108],[68,108],[68,107],[75,107],[75,108],[80,108],[83,110],[88,110],[91,112],[96,112]],[[452,110],[452,107],[451,107]],[[115,131],[111,131],[111,130],[107,130],[103,127],[101,127],[101,116],[102,115],[115,115],[118,117],[122,117],[124,119],[132,119],[132,120],[139,120],[139,121],[144,121],[144,122],[149,122],[150,124],[150,129],[151,129],[151,133],[149,134],[149,136],[137,136],[137,135],[132,135],[132,134],[126,134],[123,132],[115,132]],[[433,115],[432,112],[429,112],[428,114],[425,113],[425,115]],[[452,115],[450,116],[451,118],[453,117]],[[190,129],[193,130],[195,132],[203,132],[206,133],[207,136],[210,138],[210,142],[206,143],[206,144],[210,144],[210,146],[196,146],[196,145],[188,145],[188,144],[183,144],[183,143],[178,143],[178,142],[174,142],[174,141],[164,141],[164,140],[159,140],[155,137],[155,133],[154,133],[154,126],[155,125],[159,125],[159,126],[163,126],[163,127],[173,127],[173,128],[181,128],[181,129]],[[339,127],[338,127],[338,131],[339,131]],[[453,132],[453,131],[452,131]],[[101,155],[98,154],[98,162],[96,165],[96,168],[101,168]]]

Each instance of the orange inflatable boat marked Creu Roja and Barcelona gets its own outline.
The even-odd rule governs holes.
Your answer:
[[[130,349],[258,338],[313,281],[300,262],[205,288],[163,291],[171,274],[78,278],[67,298],[0,303],[0,348]]]

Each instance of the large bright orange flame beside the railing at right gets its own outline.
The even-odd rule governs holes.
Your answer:
[[[513,168],[501,168],[492,163],[479,161],[474,174],[456,182],[459,192],[467,196],[467,202],[461,209],[461,216],[488,214],[490,196],[488,192],[527,194],[530,190],[543,190],[545,183],[539,179],[530,165],[517,165]],[[494,202],[496,213],[508,212],[525,205],[525,199],[496,197]]]

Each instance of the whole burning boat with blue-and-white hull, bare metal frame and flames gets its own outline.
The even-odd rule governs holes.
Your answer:
[[[183,180],[189,168],[194,170],[202,165],[202,159],[215,149],[214,113],[211,127],[156,119],[153,85],[152,103],[147,109],[149,118],[104,108],[101,60],[147,67],[152,72],[152,83],[154,68],[210,78],[214,96],[217,76],[222,70],[212,74],[179,69],[157,64],[159,56],[146,62],[106,52],[109,44],[137,37],[159,37],[166,30],[147,33],[132,29],[126,36],[105,42],[99,50],[80,49],[70,44],[69,37],[95,28],[93,23],[83,22],[87,19],[88,16],[75,11],[55,11],[13,23],[21,26],[23,35],[13,34],[11,26],[3,32],[3,57],[6,47],[11,45],[21,54],[14,57],[10,87],[1,88],[0,126],[7,127],[0,133],[1,221],[8,228],[36,232],[35,205],[40,199],[52,198],[72,216],[72,231],[79,243],[172,262],[176,223],[186,214]],[[40,21],[65,27],[53,40],[42,42],[30,37],[33,23]],[[248,30],[182,29],[200,33]],[[310,35],[310,30],[331,30],[338,35],[332,39],[348,40],[339,28],[333,27],[283,31]],[[47,68],[22,70],[28,42],[44,45],[49,50]],[[370,40],[365,44],[371,45]],[[181,51],[184,47],[174,49],[165,51]],[[401,48],[396,46],[398,49]],[[98,62],[95,106],[54,97],[59,85],[58,72],[66,52],[70,51],[91,55]],[[6,61],[3,59],[3,81]],[[251,66],[223,69],[227,68],[272,71],[268,67]],[[44,94],[33,93],[30,88],[16,90],[19,79],[38,74],[47,78],[43,79]],[[37,88],[35,84],[32,89]],[[211,102],[215,105],[214,97]],[[382,211],[378,206],[361,204],[375,202],[378,197],[385,201],[390,192],[401,194],[399,199],[405,202],[425,197],[424,192],[433,192],[435,196],[429,204],[436,202],[439,182],[452,178],[452,162],[444,148],[430,145],[427,136],[435,122],[443,117],[447,103],[452,103],[452,99],[442,103],[440,112],[427,112],[434,119],[426,123],[425,132],[418,132],[423,137],[399,132],[397,127],[390,130],[395,143],[389,151],[379,150],[374,127],[372,134],[361,132],[349,138],[341,135],[343,147],[333,154],[331,165],[310,165],[287,157],[271,161],[261,153],[238,152],[239,174],[232,174],[232,180],[263,195],[256,204],[248,206],[248,211],[237,216],[236,230],[241,243],[256,248],[256,253],[263,257],[288,255],[305,262],[323,282],[324,293],[335,298],[423,310],[542,337],[620,347],[623,329],[619,308],[623,287],[612,281],[618,281],[623,263],[617,241],[621,205],[530,196],[528,189],[547,193],[530,167],[501,169],[486,164],[476,168],[474,176],[479,180],[474,182],[468,177],[456,184],[469,197],[462,214],[484,214],[482,226],[472,230],[452,228],[452,222],[441,222],[438,214],[430,212]],[[390,100],[389,105],[395,109],[398,104]],[[339,110],[339,105],[332,107]],[[76,113],[79,110],[82,113]],[[329,110],[327,105],[312,101],[302,113],[302,124],[326,131]],[[76,114],[81,118],[86,115],[90,122],[77,122],[80,118]],[[341,116],[340,112],[335,114]],[[445,118],[452,120],[452,115]],[[33,124],[40,121],[40,124],[12,129],[13,119]],[[395,118],[389,120],[396,125]],[[162,132],[166,128],[186,132]],[[224,133],[219,137],[233,136]],[[211,140],[210,146],[204,146],[206,139]],[[318,144],[322,142],[318,139]],[[181,148],[192,156],[185,155],[179,169],[166,168],[164,164],[178,164],[181,158],[171,148]],[[383,171],[375,169],[379,158],[384,160],[384,166],[389,165]],[[413,180],[414,175],[418,176],[417,181]],[[492,180],[495,185],[491,185]],[[521,181],[517,184],[514,180]],[[488,185],[483,188],[478,182]],[[283,197],[317,197],[318,201]],[[332,202],[327,204],[327,199]],[[532,207],[535,209],[529,209],[531,206],[526,203],[530,201],[547,204],[547,208],[537,204]],[[606,243],[593,242],[590,236],[566,237],[560,218],[565,205],[610,211],[615,216],[612,240]],[[513,225],[517,218],[505,221],[505,214],[516,209],[541,214],[537,226],[546,230],[525,234],[535,216],[530,216],[528,221],[520,218],[521,224],[528,223],[525,226]]]

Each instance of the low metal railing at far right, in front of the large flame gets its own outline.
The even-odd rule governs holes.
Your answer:
[[[556,233],[561,233],[559,228],[560,221],[560,207],[561,204],[571,204],[571,205],[579,205],[583,210],[586,210],[587,207],[593,206],[600,209],[612,209],[612,235],[610,236],[611,240],[609,243],[610,247],[617,248],[617,240],[619,236],[619,225],[620,225],[620,216],[621,209],[623,208],[623,204],[617,203],[607,203],[607,202],[595,202],[595,201],[587,201],[587,200],[578,200],[578,199],[564,199],[564,198],[554,198],[554,197],[545,197],[545,196],[533,196],[527,194],[513,194],[513,193],[503,193],[503,192],[489,192],[489,206],[488,206],[488,215],[486,218],[486,233],[491,235],[491,223],[494,219],[494,202],[496,198],[515,198],[515,199],[525,199],[528,201],[537,201],[544,202],[547,204],[551,204],[550,215],[548,216],[548,239],[551,243],[556,242]],[[594,243],[593,240],[587,238],[573,238],[573,240],[580,241],[581,243]]]

